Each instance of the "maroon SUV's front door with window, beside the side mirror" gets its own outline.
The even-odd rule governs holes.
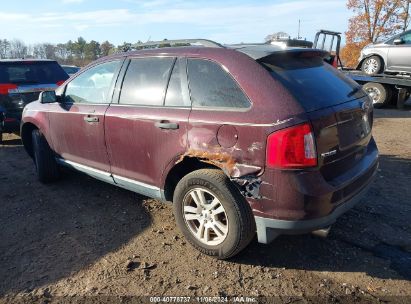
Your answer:
[[[54,149],[73,165],[110,172],[104,115],[121,64],[118,59],[90,67],[66,85],[61,103],[50,105]]]

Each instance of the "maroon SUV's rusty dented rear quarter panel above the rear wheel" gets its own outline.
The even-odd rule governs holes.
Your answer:
[[[210,162],[232,178],[261,174],[267,136],[306,121],[304,110],[282,84],[247,55],[205,49],[187,57],[212,60],[223,66],[248,97],[250,107],[193,108],[185,156]]]

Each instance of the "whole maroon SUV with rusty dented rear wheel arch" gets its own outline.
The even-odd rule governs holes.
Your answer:
[[[172,201],[188,241],[218,258],[255,232],[329,227],[377,170],[370,99],[322,51],[206,44],[102,58],[28,104],[40,181],[63,165]]]

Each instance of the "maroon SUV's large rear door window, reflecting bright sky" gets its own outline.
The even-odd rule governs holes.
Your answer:
[[[132,59],[121,88],[120,103],[161,106],[174,58]]]

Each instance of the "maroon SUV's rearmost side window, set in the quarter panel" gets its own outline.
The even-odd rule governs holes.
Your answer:
[[[193,107],[250,107],[238,84],[219,64],[203,59],[188,59],[187,64]]]

